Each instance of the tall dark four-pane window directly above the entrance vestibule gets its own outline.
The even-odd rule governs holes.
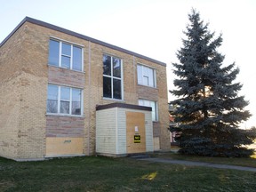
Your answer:
[[[122,60],[103,55],[103,97],[122,100]]]

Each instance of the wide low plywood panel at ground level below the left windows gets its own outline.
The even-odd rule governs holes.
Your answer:
[[[83,138],[46,138],[46,156],[83,154]]]

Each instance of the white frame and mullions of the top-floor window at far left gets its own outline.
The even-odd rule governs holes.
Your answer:
[[[58,67],[59,68],[66,68],[66,67],[63,67],[61,66],[61,56],[65,56],[65,57],[69,57],[70,58],[70,68],[67,68],[69,70],[74,70],[74,71],[78,71],[78,72],[84,72],[84,47],[80,44],[75,44],[75,43],[71,43],[71,42],[68,42],[68,41],[64,41],[64,40],[60,40],[58,38],[50,38],[49,40],[49,52],[50,52],[50,41],[56,41],[56,42],[59,42],[59,65]],[[70,52],[70,56],[69,55],[66,55],[66,54],[62,54],[62,44],[69,44],[71,45],[71,52]],[[73,48],[75,47],[78,47],[81,49],[81,70],[76,70],[76,69],[73,69]],[[49,60],[48,60],[49,61]],[[54,66],[54,65],[51,65],[49,64],[50,66],[53,66],[53,67],[57,67],[57,66]]]

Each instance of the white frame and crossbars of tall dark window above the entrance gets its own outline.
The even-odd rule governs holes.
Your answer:
[[[107,56],[111,58],[111,71],[110,71],[110,76],[104,74],[104,69],[102,72],[103,78],[102,78],[102,95],[104,100],[124,100],[124,73],[123,73],[123,60],[119,57],[109,55],[107,53],[104,53],[102,56],[102,59]],[[120,68],[120,76],[117,77],[114,76],[114,71],[113,71],[113,58],[116,58],[120,60],[121,68]],[[102,65],[103,65],[103,60],[102,60]],[[104,97],[104,77],[108,77],[111,79],[111,98],[110,97]],[[121,99],[116,99],[114,98],[114,79],[120,80],[121,81]]]

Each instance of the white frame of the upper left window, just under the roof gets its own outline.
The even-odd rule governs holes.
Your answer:
[[[50,42],[51,41],[55,41],[55,42],[58,42],[59,43],[59,56],[58,56],[58,65],[52,65],[50,64]],[[62,46],[63,44],[68,44],[70,45],[70,55],[67,55],[67,54],[64,54],[62,53],[63,50],[62,50]],[[81,70],[77,70],[77,69],[74,69],[74,65],[73,65],[73,60],[74,60],[74,47],[76,48],[80,48],[81,49]],[[77,72],[84,72],[84,45],[81,45],[81,44],[75,44],[75,43],[72,43],[72,42],[68,42],[68,41],[65,41],[65,40],[62,40],[62,39],[59,39],[59,38],[56,38],[56,37],[50,37],[49,39],[49,46],[48,46],[49,50],[48,50],[48,65],[49,66],[52,66],[52,67],[56,67],[56,68],[66,68],[66,69],[69,69],[69,70],[74,70],[74,71],[77,71]],[[64,67],[62,65],[62,56],[63,57],[68,57],[69,60],[70,60],[70,66],[69,68],[67,67]]]

